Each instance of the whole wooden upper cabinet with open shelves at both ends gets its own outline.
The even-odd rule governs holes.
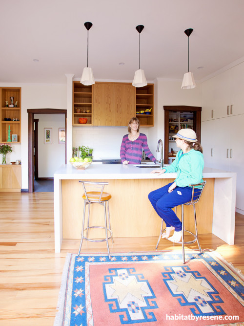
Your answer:
[[[153,127],[154,84],[136,88],[130,83],[73,82],[73,126],[127,126],[132,117],[142,127]],[[79,112],[77,112],[77,109]],[[150,111],[146,114],[145,110]],[[141,113],[136,113],[144,111]],[[85,124],[79,118],[87,118]]]

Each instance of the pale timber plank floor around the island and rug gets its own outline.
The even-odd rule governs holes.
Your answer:
[[[78,205],[77,209],[82,208]],[[213,249],[244,273],[244,216],[236,213],[235,244],[201,235],[203,249]],[[111,252],[155,250],[156,237],[114,239]],[[63,240],[54,253],[53,193],[0,193],[0,325],[52,326],[66,253],[80,240]],[[195,244],[188,248],[197,248]],[[161,240],[159,250],[178,250]],[[106,252],[104,243],[85,242],[82,252]]]

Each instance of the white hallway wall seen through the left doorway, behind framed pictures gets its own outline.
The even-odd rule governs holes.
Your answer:
[[[52,177],[65,163],[65,145],[59,144],[59,128],[64,128],[63,114],[34,114],[38,119],[38,176]],[[52,128],[52,144],[44,144],[44,128]]]

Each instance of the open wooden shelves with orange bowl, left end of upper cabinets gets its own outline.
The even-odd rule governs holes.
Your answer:
[[[73,81],[73,126],[93,125],[93,85],[84,86],[79,81]],[[77,113],[76,109],[81,112]],[[87,118],[87,123],[80,124],[79,118]]]

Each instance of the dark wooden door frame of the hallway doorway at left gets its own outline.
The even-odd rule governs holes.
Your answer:
[[[67,164],[67,110],[66,109],[27,109],[28,112],[28,192],[34,192],[34,114],[64,114],[65,164]]]

